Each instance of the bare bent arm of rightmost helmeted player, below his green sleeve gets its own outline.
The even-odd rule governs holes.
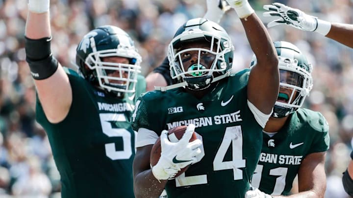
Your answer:
[[[312,191],[323,197],[326,190],[325,174],[326,152],[305,156],[298,171],[299,192]]]

